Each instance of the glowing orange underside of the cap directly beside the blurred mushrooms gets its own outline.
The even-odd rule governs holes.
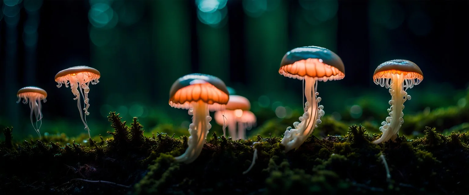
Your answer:
[[[228,99],[228,94],[225,94],[212,84],[204,83],[189,85],[179,89],[169,101],[176,104],[184,104],[193,101],[204,101],[208,104],[227,104]]]

